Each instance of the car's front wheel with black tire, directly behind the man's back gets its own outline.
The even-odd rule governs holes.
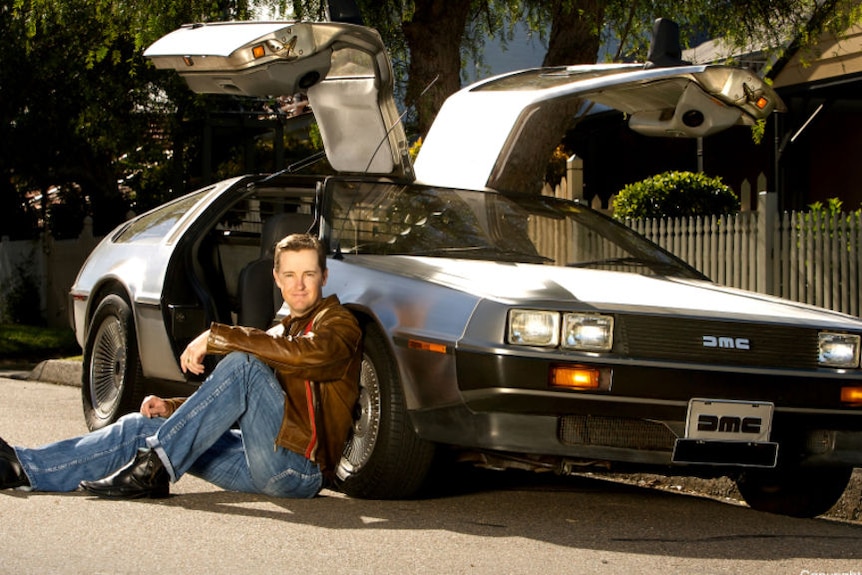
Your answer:
[[[377,326],[368,326],[363,345],[356,420],[336,486],[364,499],[411,497],[428,474],[434,444],[410,424],[397,366]]]

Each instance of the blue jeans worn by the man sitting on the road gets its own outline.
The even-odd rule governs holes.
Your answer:
[[[283,417],[284,391],[272,368],[234,352],[167,419],[132,413],[80,437],[15,451],[37,491],[72,491],[150,447],[172,481],[188,472],[230,491],[314,497],[323,484],[318,466],[275,444]]]

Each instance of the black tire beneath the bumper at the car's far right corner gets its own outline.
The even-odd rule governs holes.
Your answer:
[[[816,517],[838,502],[852,473],[852,467],[752,469],[737,478],[736,486],[752,509]]]

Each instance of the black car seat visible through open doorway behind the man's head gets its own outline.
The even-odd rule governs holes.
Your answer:
[[[283,299],[272,277],[275,244],[295,233],[305,233],[314,224],[311,214],[284,213],[268,218],[260,238],[260,257],[246,264],[239,274],[237,324],[268,329]]]

